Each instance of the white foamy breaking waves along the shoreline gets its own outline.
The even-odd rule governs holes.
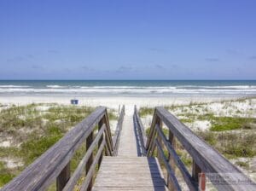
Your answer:
[[[256,86],[193,86],[192,88],[179,88],[174,86],[60,86],[47,85],[47,88],[1,88],[0,94],[49,94],[49,95],[256,95]],[[67,88],[66,88],[67,87]],[[76,88],[75,88],[76,87]],[[189,86],[191,87],[191,86]],[[197,87],[197,88],[196,88]],[[215,88],[214,88],[215,87]],[[230,88],[232,87],[232,88]],[[236,88],[234,88],[236,87]]]

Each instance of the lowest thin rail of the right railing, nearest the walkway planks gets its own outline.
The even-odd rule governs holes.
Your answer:
[[[168,161],[166,159],[165,153],[163,151],[162,146],[160,145],[160,142],[155,139],[154,144],[156,145],[156,148],[158,149],[158,153],[160,155],[160,158],[164,162],[164,165],[166,166],[166,171],[168,172],[169,175],[169,180],[172,181],[172,185],[175,188],[175,190],[181,190],[180,185],[177,182],[177,178],[175,177],[174,171],[172,171],[171,166],[168,164]]]

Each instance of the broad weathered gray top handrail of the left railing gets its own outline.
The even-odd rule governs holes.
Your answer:
[[[55,181],[106,111],[106,107],[98,107],[2,190],[45,190],[51,182]]]

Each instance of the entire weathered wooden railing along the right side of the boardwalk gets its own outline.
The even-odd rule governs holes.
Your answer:
[[[138,131],[141,142],[144,142],[143,140],[146,139],[144,128],[136,107],[134,119],[137,128],[140,129]],[[162,130],[163,124],[166,124],[169,132],[167,137]],[[176,139],[193,159],[191,173],[176,152]],[[168,175],[166,184],[170,190],[182,189],[177,181],[176,167],[181,172],[189,190],[205,190],[206,176],[218,190],[256,190],[255,182],[163,107],[155,108],[148,140],[143,147],[147,156],[152,156],[154,151],[157,151],[157,157],[166,168]],[[164,152],[165,148],[168,156]]]

